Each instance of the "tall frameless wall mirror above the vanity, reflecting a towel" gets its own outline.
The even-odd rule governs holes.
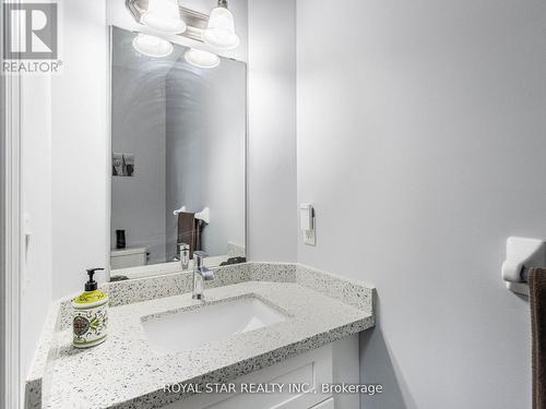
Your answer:
[[[244,262],[246,64],[149,57],[138,36],[111,28],[110,279],[191,269],[194,251]]]

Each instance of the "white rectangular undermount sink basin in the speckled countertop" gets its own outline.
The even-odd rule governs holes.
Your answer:
[[[153,349],[173,352],[232,335],[263,328],[288,315],[256,297],[204,305],[197,310],[143,318],[142,326]]]

